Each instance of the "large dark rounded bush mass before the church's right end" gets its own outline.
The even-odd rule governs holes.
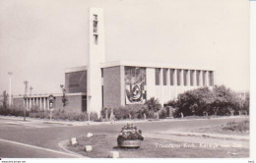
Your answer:
[[[229,88],[215,85],[213,90],[201,87],[181,93],[176,100],[169,101],[167,105],[175,108],[174,117],[180,117],[181,113],[184,116],[204,116],[206,113],[224,116],[230,115],[232,110],[238,114],[239,110],[248,108],[243,108],[246,105],[244,103]]]

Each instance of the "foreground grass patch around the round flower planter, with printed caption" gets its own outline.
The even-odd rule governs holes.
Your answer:
[[[119,151],[122,158],[220,158],[249,157],[249,149],[234,147],[202,147],[199,143],[183,143],[157,138],[145,138],[139,149],[117,147],[115,136],[97,135],[77,138],[78,145],[67,145],[67,149],[94,158],[107,157],[108,151]],[[93,151],[86,152],[85,145],[92,145]]]

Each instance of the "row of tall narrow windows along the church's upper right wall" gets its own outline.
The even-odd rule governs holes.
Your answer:
[[[160,85],[160,68],[156,69],[156,85]],[[174,75],[175,75],[175,70],[174,69],[170,69],[168,71],[168,69],[162,69],[162,84],[163,85],[174,85]],[[169,73],[169,83],[167,83],[167,73]],[[190,74],[189,74],[190,73]],[[203,84],[203,86],[206,86],[206,78],[209,79],[209,85],[213,86],[214,85],[214,72],[213,71],[209,71],[208,73],[208,77],[207,75],[207,71],[197,71],[197,70],[176,70],[176,84],[177,85],[201,85]],[[200,81],[200,77],[203,77],[202,83]],[[183,77],[183,83],[181,83],[181,77]],[[189,81],[188,81],[189,80]]]

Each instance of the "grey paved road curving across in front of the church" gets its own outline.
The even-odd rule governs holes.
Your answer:
[[[164,132],[164,131],[190,131],[199,127],[218,126],[227,122],[243,121],[248,118],[235,119],[209,119],[209,120],[176,120],[176,121],[160,121],[160,122],[145,122],[138,123],[138,127],[143,132]],[[32,146],[38,146],[47,149],[63,151],[58,143],[72,136],[86,136],[87,133],[93,134],[111,134],[114,138],[118,136],[123,125],[95,125],[95,126],[65,126],[39,123],[24,123],[20,120],[6,120],[0,118],[0,138],[11,140]],[[24,145],[8,143],[0,141],[0,156],[1,157],[64,157],[59,153],[50,151],[34,151],[30,147]],[[15,150],[14,150],[15,149]],[[64,152],[64,151],[63,151]]]

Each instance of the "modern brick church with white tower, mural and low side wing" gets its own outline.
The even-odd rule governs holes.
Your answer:
[[[161,105],[189,89],[214,85],[213,68],[176,66],[170,63],[105,62],[103,11],[90,9],[90,36],[87,66],[68,69],[65,73],[68,104],[66,110],[96,112],[102,108],[144,104],[156,97]],[[62,108],[62,94],[55,96],[54,108]],[[37,105],[48,109],[48,95],[14,97],[14,104],[28,109]]]

